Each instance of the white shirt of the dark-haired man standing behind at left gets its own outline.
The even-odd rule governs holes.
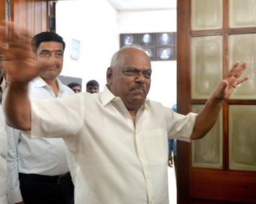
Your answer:
[[[59,86],[57,98],[74,94],[72,89],[62,85],[59,79],[56,80]],[[4,103],[7,92],[8,89],[4,92]],[[56,99],[56,95],[41,77],[36,77],[29,83],[29,98]],[[66,145],[63,139],[29,139],[20,130],[8,125],[6,125],[6,132],[8,134],[8,202],[10,204],[23,200],[20,193],[19,172],[40,175],[62,175],[69,172]]]

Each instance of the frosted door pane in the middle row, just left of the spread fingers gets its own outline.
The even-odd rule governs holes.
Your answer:
[[[192,98],[208,99],[222,80],[222,35],[192,37]]]

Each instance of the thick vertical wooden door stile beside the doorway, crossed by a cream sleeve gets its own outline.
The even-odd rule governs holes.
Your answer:
[[[177,1],[177,112],[190,112],[190,1]],[[182,175],[181,173],[182,172]],[[190,143],[177,142],[177,203],[190,204]]]

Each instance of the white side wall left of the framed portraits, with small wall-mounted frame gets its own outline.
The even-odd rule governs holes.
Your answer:
[[[61,75],[83,80],[86,92],[89,80],[99,82],[102,91],[105,72],[111,57],[119,48],[118,13],[106,0],[58,1],[56,4],[56,33],[66,42]],[[70,57],[70,39],[81,41],[81,58]]]

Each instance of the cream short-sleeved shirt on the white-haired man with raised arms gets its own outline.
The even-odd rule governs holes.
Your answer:
[[[105,87],[99,94],[32,100],[26,133],[65,140],[76,204],[168,204],[167,136],[190,141],[196,116],[147,100],[135,128],[123,101]]]

